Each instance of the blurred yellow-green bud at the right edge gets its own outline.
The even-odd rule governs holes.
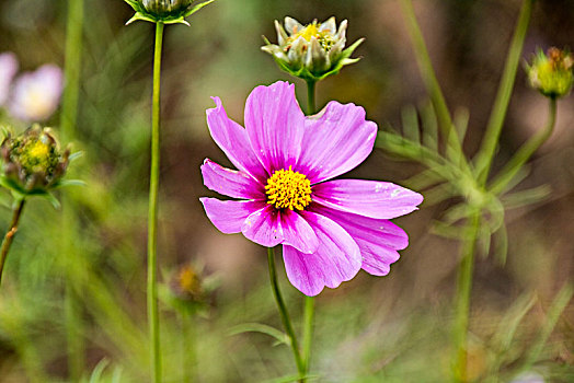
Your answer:
[[[552,98],[565,96],[574,83],[574,57],[570,51],[550,48],[539,49],[532,65],[526,66],[530,85]]]

